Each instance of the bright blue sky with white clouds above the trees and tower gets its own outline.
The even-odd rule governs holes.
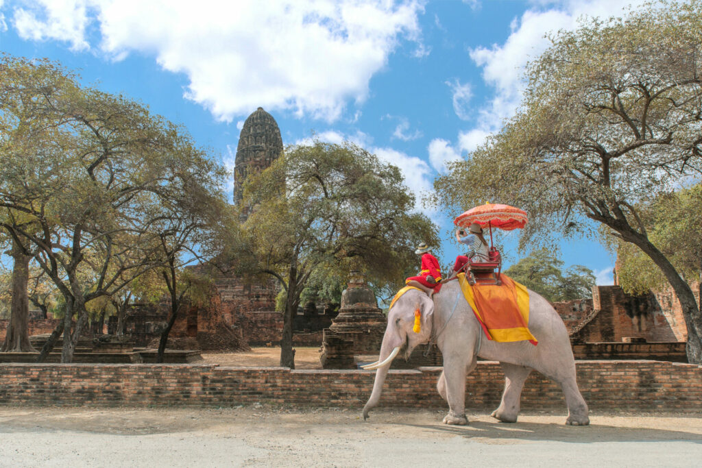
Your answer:
[[[58,60],[86,84],[144,102],[230,168],[241,123],[262,106],[284,143],[311,131],[355,141],[399,166],[420,199],[446,161],[468,157],[512,115],[545,34],[641,3],[0,0],[0,50]],[[417,209],[441,226],[451,262],[460,213]],[[505,239],[512,262],[515,240]],[[599,243],[561,250],[566,266],[611,283],[614,260]]]

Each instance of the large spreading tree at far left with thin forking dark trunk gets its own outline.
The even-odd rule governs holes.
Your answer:
[[[211,178],[214,163],[183,128],[79,86],[59,65],[5,56],[0,83],[0,208],[32,229],[0,225],[25,253],[36,249],[64,297],[61,359],[70,362],[86,303],[161,265],[161,203],[190,175]],[[95,280],[88,289],[81,272]]]

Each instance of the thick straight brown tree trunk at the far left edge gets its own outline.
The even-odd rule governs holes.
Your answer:
[[[10,321],[7,327],[2,352],[37,352],[29,342],[29,296],[27,282],[29,281],[29,260],[31,256],[22,252],[21,246],[13,239],[12,258],[12,302]]]

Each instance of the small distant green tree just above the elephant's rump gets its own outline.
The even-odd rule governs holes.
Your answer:
[[[595,286],[592,270],[582,265],[572,265],[564,276],[563,261],[547,248],[534,250],[506,269],[505,274],[550,302],[588,297]]]

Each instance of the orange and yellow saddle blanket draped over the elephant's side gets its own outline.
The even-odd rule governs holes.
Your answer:
[[[468,301],[488,340],[513,342],[537,341],[529,331],[529,290],[513,281],[504,273],[500,274],[501,286],[470,286],[464,273],[458,274],[465,300]]]

